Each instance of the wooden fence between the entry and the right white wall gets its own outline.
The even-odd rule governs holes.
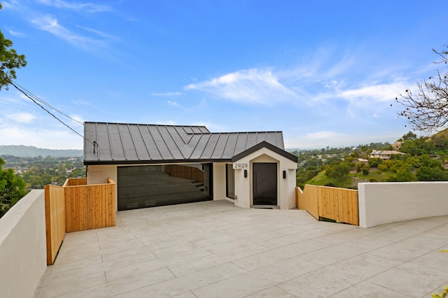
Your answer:
[[[307,210],[317,220],[329,218],[359,225],[358,191],[345,188],[305,185],[295,188],[297,208]]]

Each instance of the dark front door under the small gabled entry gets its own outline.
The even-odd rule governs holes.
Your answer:
[[[277,164],[253,163],[253,205],[277,204]]]

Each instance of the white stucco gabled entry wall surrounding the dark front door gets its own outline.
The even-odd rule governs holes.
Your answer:
[[[235,169],[235,205],[250,208],[253,205],[252,170],[254,162],[275,162],[277,164],[277,205],[281,209],[295,208],[295,169],[297,163],[267,148],[255,152],[234,162],[248,164],[248,175],[244,178],[244,169]],[[283,179],[283,171],[286,178]]]

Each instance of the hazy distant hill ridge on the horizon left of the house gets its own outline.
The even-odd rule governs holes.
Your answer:
[[[83,150],[56,150],[36,148],[34,146],[0,145],[0,155],[13,155],[16,157],[82,157]]]

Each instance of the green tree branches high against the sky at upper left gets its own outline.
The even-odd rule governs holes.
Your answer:
[[[25,55],[19,55],[11,46],[13,42],[5,38],[0,30],[0,90],[2,87],[8,90],[10,80],[17,78],[15,69],[27,65]]]

